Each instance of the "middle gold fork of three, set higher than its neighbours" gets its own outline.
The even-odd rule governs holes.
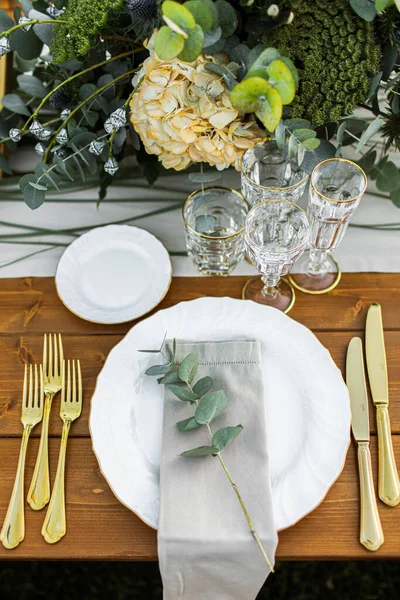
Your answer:
[[[48,348],[47,348],[48,346]],[[34,510],[40,510],[50,499],[49,476],[49,418],[51,403],[54,396],[61,390],[61,368],[64,360],[64,351],[61,334],[53,336],[45,334],[43,345],[43,387],[46,394],[44,404],[42,433],[40,436],[39,451],[36,458],[35,470],[28,491],[28,502]]]

